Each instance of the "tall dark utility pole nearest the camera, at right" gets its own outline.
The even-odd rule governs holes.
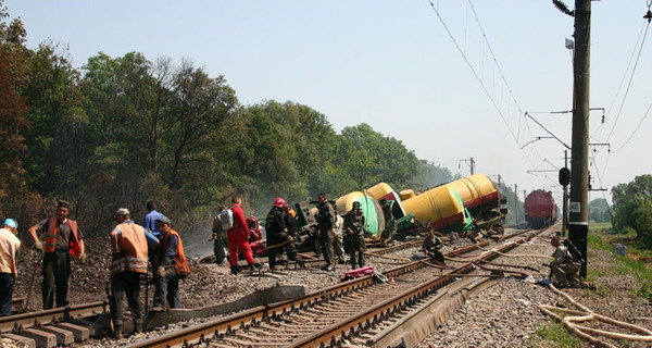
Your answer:
[[[575,54],[573,57],[573,142],[568,239],[584,257],[579,275],[587,276],[589,233],[589,72],[591,0],[575,0]]]

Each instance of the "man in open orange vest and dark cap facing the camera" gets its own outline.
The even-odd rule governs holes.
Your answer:
[[[42,220],[29,227],[27,232],[34,240],[37,250],[45,251],[43,256],[43,309],[52,309],[54,290],[57,290],[57,307],[66,307],[68,279],[71,277],[71,254],[86,263],[84,235],[77,222],[67,219],[71,203],[60,200],[57,203],[57,216]],[[36,233],[46,235],[46,245],[38,239]]]

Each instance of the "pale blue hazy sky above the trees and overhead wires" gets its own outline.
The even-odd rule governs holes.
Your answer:
[[[573,9],[574,1],[566,3]],[[530,112],[570,145],[570,114],[549,112],[572,109],[572,51],[564,40],[572,38],[573,18],[549,0],[4,4],[25,24],[29,47],[47,39],[68,45],[76,66],[99,51],[189,58],[212,76],[224,75],[243,104],[306,104],[337,130],[368,123],[454,173],[468,175],[460,160],[473,157],[476,172],[501,174],[521,196],[537,188],[561,192],[556,173],[528,171],[559,170],[564,147],[548,138],[529,142],[549,135],[524,116]],[[592,2],[591,108],[605,109],[605,123],[601,111],[591,113],[590,142],[607,142],[612,134],[611,153],[594,148],[594,187],[652,173],[645,156],[652,115],[643,119],[652,105],[651,38],[631,78],[647,10],[645,0]]]

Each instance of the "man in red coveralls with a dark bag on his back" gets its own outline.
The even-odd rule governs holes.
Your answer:
[[[238,273],[238,249],[242,252],[244,260],[249,263],[251,272],[258,270],[253,261],[253,252],[249,246],[249,226],[242,211],[242,199],[240,196],[231,198],[230,210],[234,215],[234,226],[226,231],[228,240],[228,263],[231,268],[231,274]]]

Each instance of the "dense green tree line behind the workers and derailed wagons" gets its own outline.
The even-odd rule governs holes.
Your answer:
[[[277,196],[456,178],[368,124],[337,133],[308,105],[242,105],[225,76],[189,59],[99,52],[76,69],[62,45],[28,49],[8,17],[0,0],[0,215],[22,226],[65,199],[87,235],[103,234],[115,209],[140,220],[151,199],[188,232],[236,194],[262,214]]]

